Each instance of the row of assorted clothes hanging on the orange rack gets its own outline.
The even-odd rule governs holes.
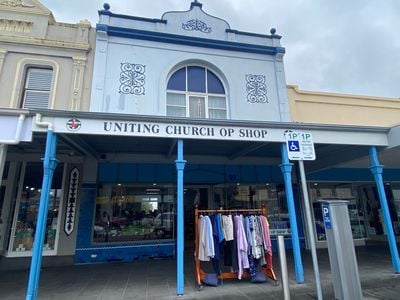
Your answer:
[[[199,260],[212,260],[217,274],[221,274],[220,253],[223,253],[224,265],[238,273],[239,279],[245,269],[250,276],[255,276],[257,265],[272,268],[269,224],[264,215],[216,213],[211,218],[199,216],[198,226]]]

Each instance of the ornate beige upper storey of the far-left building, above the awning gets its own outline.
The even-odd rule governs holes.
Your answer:
[[[0,107],[88,110],[93,41],[88,21],[59,23],[36,0],[1,0]]]

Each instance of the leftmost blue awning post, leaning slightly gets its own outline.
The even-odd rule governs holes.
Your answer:
[[[51,183],[53,181],[54,170],[57,167],[56,159],[57,135],[47,131],[46,150],[43,158],[43,182],[40,193],[39,212],[36,223],[36,232],[33,244],[31,267],[29,271],[28,290],[26,300],[36,300],[40,281],[40,267],[42,264],[43,242],[46,230],[47,210]]]

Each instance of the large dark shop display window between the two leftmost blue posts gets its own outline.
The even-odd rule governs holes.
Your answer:
[[[94,243],[173,239],[175,188],[105,184],[99,187]]]

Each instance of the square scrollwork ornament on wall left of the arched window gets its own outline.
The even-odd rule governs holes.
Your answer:
[[[144,95],[145,70],[145,65],[121,63],[119,92],[122,94]]]

